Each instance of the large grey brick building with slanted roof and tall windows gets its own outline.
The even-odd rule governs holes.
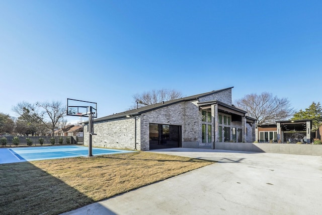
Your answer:
[[[232,105],[231,89],[160,102],[94,120],[93,147],[214,148],[216,142],[255,141],[255,119]],[[84,144],[88,144],[88,124]]]

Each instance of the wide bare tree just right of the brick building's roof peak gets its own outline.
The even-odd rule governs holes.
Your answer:
[[[235,106],[247,111],[247,115],[257,120],[257,125],[275,123],[276,120],[292,116],[294,109],[286,98],[277,98],[271,93],[249,94],[235,101]]]

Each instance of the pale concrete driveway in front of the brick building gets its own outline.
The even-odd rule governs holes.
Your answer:
[[[322,157],[202,149],[217,163],[64,214],[322,214]]]

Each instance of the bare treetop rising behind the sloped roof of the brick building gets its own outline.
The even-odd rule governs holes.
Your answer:
[[[135,101],[135,106],[138,104],[139,107],[146,105],[151,105],[163,101],[170,101],[173,99],[179,99],[182,97],[182,93],[176,90],[151,90],[149,92],[144,92],[142,94],[135,94],[133,99]]]

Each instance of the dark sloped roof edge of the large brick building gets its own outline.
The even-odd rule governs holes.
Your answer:
[[[140,107],[137,109],[133,109],[133,110],[128,110],[128,111],[124,111],[121,113],[115,113],[109,116],[105,116],[105,117],[101,117],[98,119],[95,119],[95,122],[100,122],[100,121],[106,121],[106,120],[111,120],[111,119],[117,119],[117,118],[123,118],[126,116],[136,116],[136,115],[140,115],[142,113],[146,113],[152,110],[156,110],[162,107],[167,107],[169,105],[173,105],[173,104],[177,104],[183,101],[191,101],[191,100],[197,100],[198,98],[202,98],[205,96],[209,96],[215,93],[219,93],[222,91],[226,91],[229,89],[232,89],[233,87],[229,87],[229,88],[225,88],[225,89],[221,89],[221,90],[216,90],[216,91],[210,91],[207,93],[201,93],[201,94],[197,94],[197,95],[193,95],[193,96],[188,96],[188,97],[184,97],[184,98],[180,98],[180,99],[174,99],[174,100],[170,100],[170,101],[165,101],[165,102],[160,102],[160,103],[156,103],[156,104],[152,104],[152,105],[147,105],[144,107]],[[84,122],[85,124],[88,122]]]

